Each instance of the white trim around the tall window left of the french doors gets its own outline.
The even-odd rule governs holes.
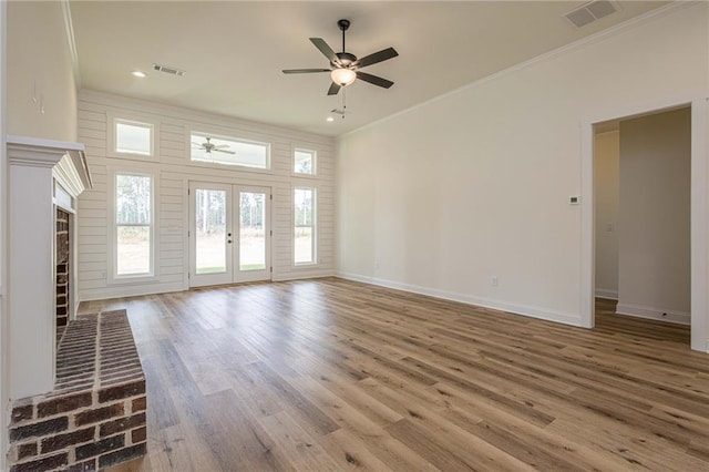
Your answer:
[[[119,175],[133,175],[141,177],[150,177],[151,178],[151,256],[150,256],[150,273],[147,274],[135,274],[135,275],[119,275],[117,274],[117,229],[120,226],[147,226],[147,225],[119,225],[116,223],[116,179]],[[158,208],[157,204],[157,195],[158,195],[158,179],[157,173],[151,172],[146,170],[138,168],[130,168],[130,167],[121,167],[121,168],[110,168],[109,170],[109,192],[110,192],[110,205],[107,212],[107,233],[109,233],[109,248],[106,254],[110,255],[110,259],[107,260],[107,270],[106,278],[107,284],[110,285],[125,285],[125,284],[143,284],[146,281],[155,281],[158,277],[157,274],[157,214],[155,213]]]

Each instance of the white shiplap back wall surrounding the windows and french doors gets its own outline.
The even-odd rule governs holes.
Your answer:
[[[111,117],[156,123],[155,156],[114,157],[109,150]],[[188,134],[202,131],[270,143],[271,170],[210,166],[189,161]],[[191,181],[271,187],[273,279],[332,275],[335,271],[335,141],[328,136],[233,120],[186,109],[125,99],[93,91],[79,95],[79,141],[94,187],[79,199],[79,297],[93,300],[187,289],[189,280],[188,196]],[[317,151],[317,176],[292,175],[292,148]],[[150,172],[156,176],[156,277],[151,281],[110,280],[109,245],[111,172]],[[292,188],[317,188],[318,264],[295,266]]]

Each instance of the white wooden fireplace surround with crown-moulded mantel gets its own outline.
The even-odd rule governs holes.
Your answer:
[[[7,148],[8,357],[10,398],[18,400],[54,387],[56,207],[75,215],[76,197],[92,183],[83,144],[8,135]],[[75,268],[76,232],[72,233],[70,266]],[[69,319],[78,302],[75,270],[71,277]]]

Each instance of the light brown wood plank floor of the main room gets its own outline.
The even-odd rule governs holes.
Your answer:
[[[350,283],[126,308],[148,390],[129,470],[709,470],[709,356],[687,327],[594,330]]]

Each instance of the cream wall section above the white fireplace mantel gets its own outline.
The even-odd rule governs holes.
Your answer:
[[[76,84],[59,1],[8,2],[9,134],[76,141]]]

